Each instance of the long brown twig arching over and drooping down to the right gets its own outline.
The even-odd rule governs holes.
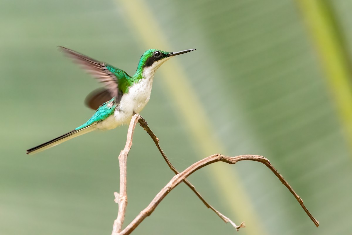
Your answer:
[[[263,156],[258,156],[258,155],[241,155],[241,156],[236,156],[236,157],[228,157],[224,156],[221,154],[214,154],[211,156],[206,157],[205,159],[202,159],[187,169],[185,169],[183,172],[180,174],[175,175],[172,177],[172,179],[169,181],[168,184],[165,185],[165,187],[162,188],[162,190],[155,196],[155,198],[152,200],[152,202],[144,209],[142,210],[136,218],[133,219],[133,221],[127,225],[127,227],[122,230],[119,235],[127,235],[130,234],[147,216],[149,216],[156,208],[156,206],[163,200],[163,198],[172,190],[174,189],[178,184],[180,184],[184,179],[186,179],[189,175],[191,175],[193,172],[199,170],[202,167],[205,167],[211,163],[214,162],[226,162],[229,164],[234,164],[238,161],[244,161],[244,160],[250,160],[250,161],[258,161],[262,162],[265,166],[269,167],[272,172],[279,178],[279,180],[289,189],[289,191],[295,196],[297,201],[301,204],[302,208],[304,211],[306,211],[307,215],[312,219],[314,224],[318,227],[319,222],[309,213],[307,208],[304,206],[302,199],[295,193],[293,188],[283,179],[281,174],[279,174],[276,169],[270,164],[269,160],[266,159]],[[240,227],[239,225],[238,227]]]

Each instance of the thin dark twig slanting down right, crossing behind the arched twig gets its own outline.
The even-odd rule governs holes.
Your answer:
[[[164,151],[161,149],[161,147],[159,146],[159,139],[158,137],[156,137],[156,135],[153,133],[153,131],[149,128],[146,120],[141,116],[138,120],[138,123],[140,126],[143,127],[143,129],[150,135],[150,137],[152,138],[152,140],[154,141],[156,147],[158,148],[159,152],[161,153],[161,155],[163,156],[166,164],[168,164],[168,166],[170,167],[170,169],[175,173],[175,174],[179,174],[180,172],[177,171],[177,169],[171,164],[171,162],[169,161],[169,159],[166,157]],[[206,205],[207,208],[210,208],[212,211],[214,211],[216,213],[216,215],[218,215],[225,223],[230,222],[230,224],[235,227],[236,229],[238,229],[237,225],[228,217],[226,217],[225,215],[221,214],[220,211],[216,210],[212,205],[210,205],[209,203],[206,202],[206,200],[201,196],[201,194],[196,190],[196,188],[187,180],[184,179],[183,182],[197,195],[197,197]],[[241,227],[245,227],[244,222],[241,223]],[[239,225],[240,226],[240,225]]]

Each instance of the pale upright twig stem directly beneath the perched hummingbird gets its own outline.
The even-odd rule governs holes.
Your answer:
[[[120,165],[120,193],[115,192],[115,202],[119,204],[119,212],[117,219],[115,219],[113,224],[112,235],[119,234],[122,228],[122,224],[125,220],[126,206],[127,206],[127,155],[132,147],[132,138],[134,128],[136,128],[137,122],[140,118],[140,115],[137,113],[133,115],[130,126],[128,127],[127,140],[125,148],[120,152],[119,155],[119,165]]]

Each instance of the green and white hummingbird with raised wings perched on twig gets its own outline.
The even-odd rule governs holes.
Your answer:
[[[53,140],[26,150],[27,154],[38,153],[97,129],[110,130],[129,123],[132,116],[142,111],[148,103],[156,70],[172,56],[195,50],[178,52],[147,50],[140,57],[136,73],[130,76],[125,71],[105,62],[94,60],[65,47],[59,48],[86,72],[98,79],[104,87],[88,94],[85,103],[96,111],[86,123]]]

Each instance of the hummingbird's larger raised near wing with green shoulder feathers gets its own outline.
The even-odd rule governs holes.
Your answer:
[[[61,48],[66,55],[71,57],[74,62],[80,64],[83,69],[98,79],[99,82],[102,82],[107,88],[107,91],[111,94],[111,97],[118,95],[118,80],[130,78],[125,71],[106,64],[105,62],[96,61],[65,47],[59,48]]]

